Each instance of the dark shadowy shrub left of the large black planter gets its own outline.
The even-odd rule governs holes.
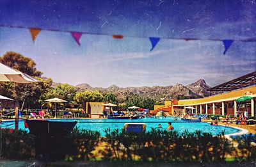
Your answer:
[[[2,156],[6,159],[31,159],[35,157],[34,136],[26,131],[2,129]]]

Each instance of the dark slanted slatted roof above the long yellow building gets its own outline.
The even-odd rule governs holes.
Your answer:
[[[209,88],[208,91],[231,91],[256,84],[256,71],[245,76],[237,77],[227,83]]]

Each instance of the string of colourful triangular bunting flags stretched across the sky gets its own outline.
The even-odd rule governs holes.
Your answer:
[[[72,38],[76,41],[76,43],[80,46],[80,38],[83,34],[88,35],[105,35],[105,36],[112,36],[115,39],[122,39],[124,38],[124,35],[109,35],[105,33],[88,33],[88,32],[77,32],[77,31],[62,31],[58,29],[41,29],[41,28],[26,28],[22,26],[6,26],[6,25],[0,25],[0,27],[5,28],[21,28],[21,29],[29,29],[31,33],[31,37],[33,42],[35,42],[36,36],[40,33],[40,31],[58,31],[58,32],[65,32],[70,33]],[[133,37],[133,38],[148,38],[150,40],[150,43],[152,45],[150,52],[153,51],[153,49],[156,47],[160,39],[170,39],[170,40],[185,40],[185,41],[191,41],[191,40],[207,40],[207,41],[221,41],[223,42],[223,45],[225,47],[225,51],[223,54],[226,54],[230,46],[233,44],[234,41],[239,42],[256,42],[256,38],[246,38],[246,39],[203,39],[203,38],[166,38],[166,37],[148,37],[148,36],[131,36],[131,35],[125,35],[126,37]]]

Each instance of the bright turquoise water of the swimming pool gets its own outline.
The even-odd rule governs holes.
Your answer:
[[[232,134],[238,132],[238,129],[225,126],[213,126],[207,122],[184,122],[181,120],[175,121],[173,117],[160,117],[160,118],[142,118],[138,120],[108,120],[108,119],[49,119],[50,121],[60,121],[60,122],[74,122],[77,121],[76,127],[79,129],[90,129],[94,131],[99,131],[100,134],[104,135],[104,129],[122,129],[126,122],[141,122],[147,125],[147,131],[151,128],[158,127],[161,123],[163,129],[167,129],[168,122],[172,122],[175,131],[182,132],[188,130],[189,132],[195,132],[200,130],[202,132],[209,132],[213,135],[219,134],[221,131],[225,131],[225,134]],[[14,121],[5,121],[2,123],[3,128],[14,129]],[[19,121],[19,129],[25,129],[24,121]],[[28,131],[28,129],[26,129]]]

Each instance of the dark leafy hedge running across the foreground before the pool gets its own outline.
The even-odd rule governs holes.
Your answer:
[[[98,131],[74,129],[61,140],[61,157],[66,160],[95,160],[98,156],[108,161],[175,161],[175,162],[223,162],[228,155],[255,161],[255,136],[237,136],[238,150],[233,141],[202,131],[166,131],[151,129],[144,133],[125,132],[124,129]],[[34,137],[26,131],[3,130],[3,157],[6,159],[29,159],[35,157]],[[68,144],[65,144],[68,143]],[[49,143],[49,147],[51,144]],[[97,152],[98,151],[98,152]],[[55,155],[55,154],[52,154]],[[56,154],[59,156],[59,154]],[[53,157],[54,159],[54,157]]]

